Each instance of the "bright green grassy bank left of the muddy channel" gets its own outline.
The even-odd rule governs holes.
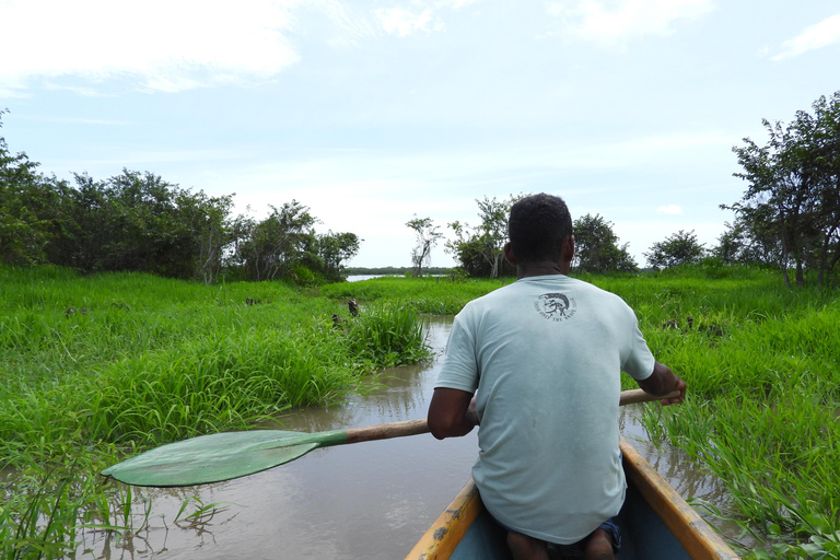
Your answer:
[[[351,317],[281,283],[0,268],[0,287],[3,558],[61,556],[85,520],[119,525],[130,494],[96,475],[119,453],[244,429],[429,355],[411,307]]]

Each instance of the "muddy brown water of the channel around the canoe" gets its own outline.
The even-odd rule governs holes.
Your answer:
[[[428,319],[429,342],[438,352],[451,324],[452,317]],[[279,418],[277,428],[319,432],[423,418],[439,368],[434,360],[385,371],[377,377],[381,386],[364,397],[295,410]],[[726,506],[722,485],[681,452],[646,443],[633,407],[623,409],[625,438],[684,498]],[[475,432],[442,442],[423,434],[316,450],[228,482],[135,489],[133,525],[143,528],[119,537],[89,529],[77,558],[399,560],[467,481],[476,455]],[[189,504],[176,521],[185,500]],[[217,505],[184,518],[200,504]]]

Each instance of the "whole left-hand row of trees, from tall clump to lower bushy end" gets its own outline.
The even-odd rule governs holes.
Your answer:
[[[296,200],[255,220],[233,215],[233,195],[210,197],[149,172],[68,182],[37,167],[0,137],[0,262],[311,283],[340,280],[359,252],[353,233],[317,233],[319,220]]]

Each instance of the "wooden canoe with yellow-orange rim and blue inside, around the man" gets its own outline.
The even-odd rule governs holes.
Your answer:
[[[627,499],[617,522],[621,560],[734,560],[737,555],[677,491],[621,439]],[[505,532],[470,479],[406,560],[510,560]]]

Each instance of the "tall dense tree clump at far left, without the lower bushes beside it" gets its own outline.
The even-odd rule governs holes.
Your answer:
[[[142,270],[210,282],[228,243],[231,197],[209,198],[122,170],[75,185],[36,173],[0,138],[0,259],[84,271]]]

